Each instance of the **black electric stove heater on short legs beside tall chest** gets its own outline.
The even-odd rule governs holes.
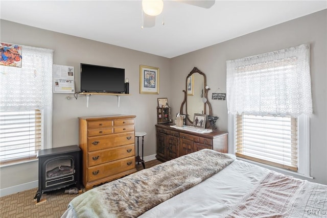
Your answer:
[[[81,149],[66,146],[37,152],[39,159],[39,187],[34,199],[40,202],[43,192],[71,185],[80,190]]]

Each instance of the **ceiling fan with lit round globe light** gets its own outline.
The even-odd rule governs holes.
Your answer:
[[[215,0],[174,0],[176,2],[194,5],[201,8],[211,8]],[[162,0],[142,0],[142,29],[155,26],[155,17],[162,12],[164,2]],[[164,24],[164,21],[162,21]]]

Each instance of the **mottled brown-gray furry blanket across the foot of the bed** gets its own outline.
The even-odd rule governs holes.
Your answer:
[[[233,161],[204,149],[86,191],[69,203],[76,217],[137,217]]]

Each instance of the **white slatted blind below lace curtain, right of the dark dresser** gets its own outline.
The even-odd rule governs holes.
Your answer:
[[[237,115],[236,156],[297,171],[297,118]]]

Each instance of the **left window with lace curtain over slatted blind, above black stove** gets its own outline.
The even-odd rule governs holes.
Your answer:
[[[53,51],[22,46],[22,67],[0,66],[0,164],[51,148]]]

